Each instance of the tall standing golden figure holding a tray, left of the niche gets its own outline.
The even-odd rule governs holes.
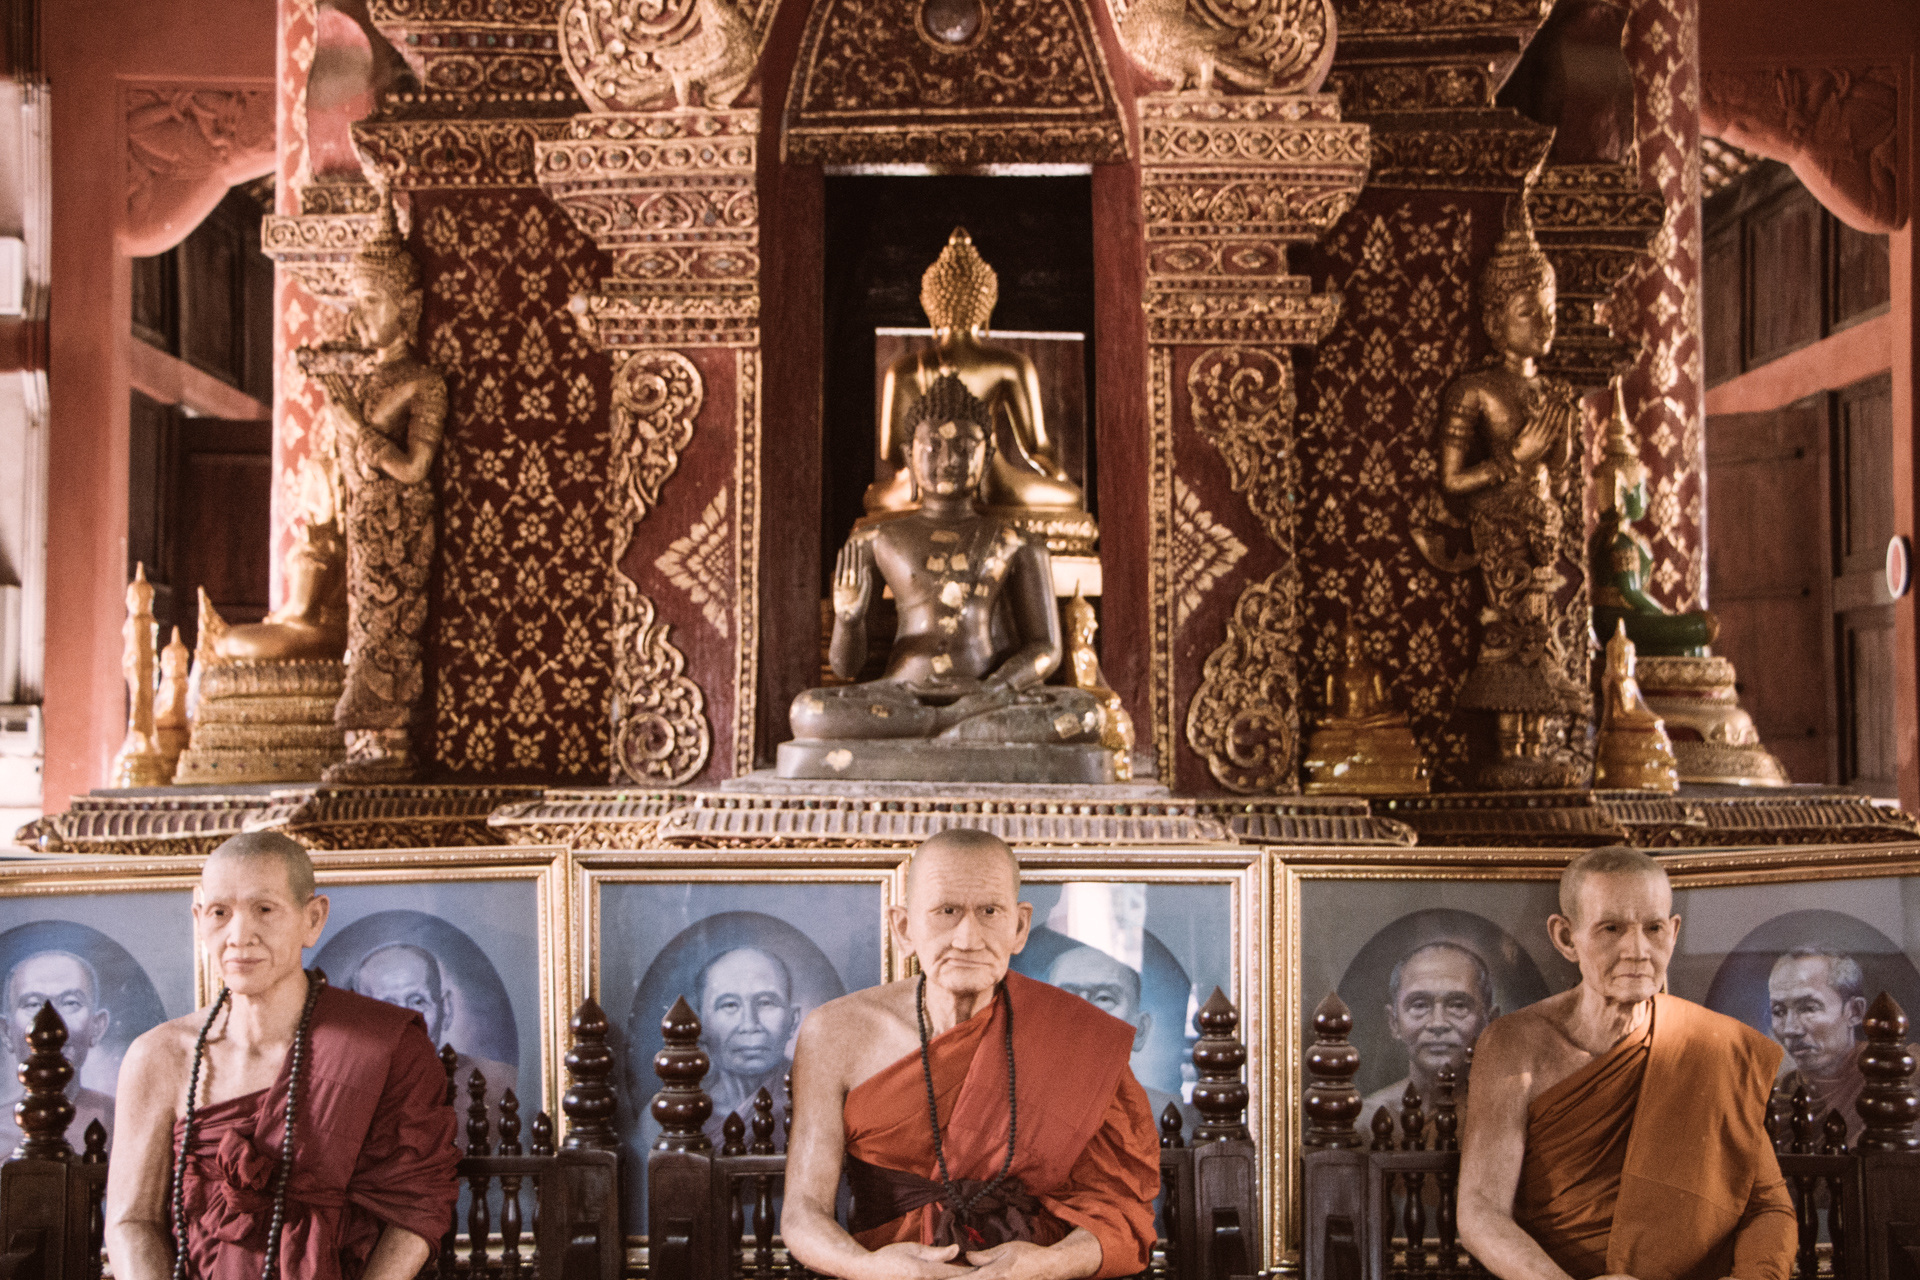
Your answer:
[[[351,345],[303,347],[301,368],[332,409],[346,482],[348,660],[334,722],[348,758],[330,783],[413,777],[413,720],[424,693],[420,641],[434,564],[434,487],[428,476],[447,420],[447,382],[413,355],[420,326],[420,267],[394,226],[380,190],[380,230],[353,253]]]

